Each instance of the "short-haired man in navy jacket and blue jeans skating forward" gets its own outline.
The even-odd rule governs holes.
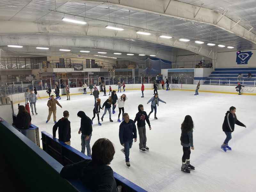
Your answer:
[[[119,140],[121,145],[124,147],[121,151],[125,155],[125,163],[128,167],[130,164],[130,148],[132,148],[132,142],[137,141],[137,130],[134,121],[132,121],[128,115],[128,113],[123,114],[124,121],[119,126]]]

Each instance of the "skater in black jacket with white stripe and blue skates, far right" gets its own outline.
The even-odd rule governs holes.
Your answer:
[[[235,124],[246,128],[246,126],[243,123],[237,120],[236,108],[232,106],[229,108],[229,111],[227,111],[224,118],[224,122],[222,124],[222,130],[226,134],[226,139],[224,140],[224,143],[220,146],[220,148],[222,148],[222,150],[225,152],[227,151],[227,149],[231,150],[231,147],[228,146],[228,141],[231,140],[232,138],[231,133],[235,129]]]

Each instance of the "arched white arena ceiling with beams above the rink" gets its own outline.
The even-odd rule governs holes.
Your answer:
[[[106,51],[108,57],[129,59],[126,54],[134,53],[165,60],[172,60],[177,49],[185,49],[214,59],[216,52],[255,48],[255,13],[253,0],[2,0],[0,45],[4,51],[29,54],[44,54],[35,47],[47,46],[47,54],[70,48],[75,55],[89,50],[83,55]],[[87,23],[77,25],[62,21],[63,17]],[[124,30],[106,29],[107,25]],[[8,44],[24,47],[7,48]]]

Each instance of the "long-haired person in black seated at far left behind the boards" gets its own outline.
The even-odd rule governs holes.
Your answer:
[[[24,105],[20,105],[18,115],[16,116],[13,125],[15,125],[17,129],[28,129],[30,124],[30,114],[28,113]]]

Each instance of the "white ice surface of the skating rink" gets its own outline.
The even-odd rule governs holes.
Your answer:
[[[123,93],[123,92],[122,92]],[[138,141],[133,142],[130,150],[131,167],[125,165],[124,154],[118,130],[116,114],[112,114],[113,123],[109,122],[108,113],[104,117],[102,126],[97,124],[97,116],[93,121],[91,147],[99,138],[108,138],[116,149],[112,169],[131,180],[140,187],[150,192],[255,192],[256,191],[256,130],[255,96],[234,95],[220,93],[204,93],[194,96],[190,91],[165,91],[158,90],[159,98],[167,104],[159,102],[157,108],[158,120],[154,119],[154,113],[150,116],[152,130],[147,129],[147,146],[149,151],[139,151]],[[134,120],[138,112],[138,105],[143,104],[144,110],[150,112],[150,104],[147,101],[153,96],[153,90],[144,91],[144,98],[140,98],[141,91],[126,91],[128,100],[125,102],[124,111]],[[101,105],[108,96],[102,96]],[[117,96],[121,96],[117,93]],[[81,135],[78,135],[80,118],[77,112],[82,110],[92,118],[94,97],[87,95],[71,95],[71,100],[66,100],[63,95],[57,106],[57,120],[62,117],[63,111],[69,111],[71,122],[71,146],[81,150]],[[47,100],[37,100],[38,115],[32,116],[32,123],[39,127],[39,131],[52,134],[53,118],[48,124],[45,121],[48,116]],[[236,107],[238,120],[247,128],[235,125],[232,140],[229,146],[232,151],[223,152],[220,145],[226,135],[222,132],[222,123],[225,113],[230,106]],[[17,112],[17,105],[15,111]],[[100,117],[103,114],[101,110]],[[180,145],[180,125],[186,115],[191,115],[195,124],[194,147],[191,150],[190,162],[196,167],[190,174],[181,172],[182,146]],[[40,134],[41,136],[41,134]],[[58,138],[58,131],[57,136]]]

